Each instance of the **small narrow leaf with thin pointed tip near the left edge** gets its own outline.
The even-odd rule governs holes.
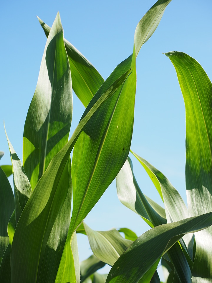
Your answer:
[[[4,128],[5,129],[5,128]],[[14,196],[15,196],[15,215],[16,224],[19,221],[21,213],[32,194],[32,188],[21,164],[21,160],[18,158],[5,130],[7,142],[10,150],[10,157],[13,170],[13,184],[14,184]]]

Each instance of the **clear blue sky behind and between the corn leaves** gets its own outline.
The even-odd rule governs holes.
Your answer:
[[[24,121],[37,84],[46,37],[36,18],[49,26],[60,12],[64,37],[106,79],[133,49],[137,23],[156,0],[4,1],[1,3],[0,45],[0,151],[2,164],[11,164],[7,134],[22,160]],[[173,0],[153,36],[136,60],[137,93],[131,149],[168,177],[186,201],[185,108],[174,67],[162,53],[181,51],[195,58],[212,78],[211,0]],[[74,94],[71,132],[84,106]],[[156,202],[160,197],[142,166],[132,158],[135,177],[143,192]],[[85,222],[94,230],[127,227],[138,236],[149,226],[125,208],[115,182],[106,190]],[[79,236],[80,260],[91,251],[86,236]]]

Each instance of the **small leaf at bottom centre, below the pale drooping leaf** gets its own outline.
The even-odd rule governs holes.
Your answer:
[[[80,282],[83,282],[87,277],[96,272],[98,269],[105,266],[105,262],[100,261],[92,254],[88,259],[80,262]]]

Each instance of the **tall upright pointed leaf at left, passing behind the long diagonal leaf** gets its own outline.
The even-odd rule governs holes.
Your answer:
[[[24,126],[24,168],[32,188],[55,154],[68,142],[72,120],[72,81],[59,14],[53,24],[41,62],[37,87]],[[71,174],[66,168],[67,198],[52,228],[44,258],[39,263],[39,283],[53,282],[70,224]]]

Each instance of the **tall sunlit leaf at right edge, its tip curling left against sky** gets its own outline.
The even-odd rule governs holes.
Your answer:
[[[168,52],[185,102],[185,178],[190,215],[211,211],[212,202],[212,84],[201,65],[182,52]],[[194,283],[212,280],[212,228],[195,235]]]

